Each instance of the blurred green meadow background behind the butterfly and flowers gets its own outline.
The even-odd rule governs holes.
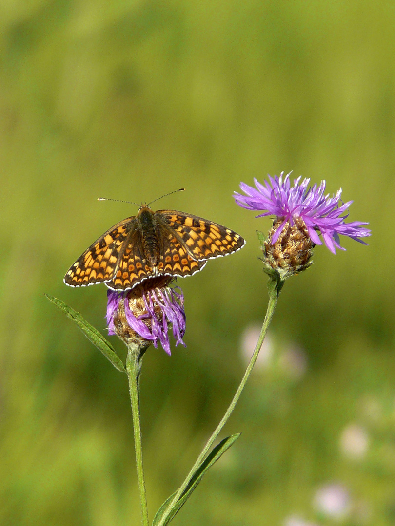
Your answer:
[[[242,436],[174,525],[395,523],[394,24],[382,0],[1,3],[2,525],[140,523],[126,378],[44,297],[105,334],[105,287],[63,276],[137,207],[96,198],[184,186],[154,208],[247,240],[179,282],[187,348],[144,357],[152,519],[227,407],[266,308],[255,230],[270,220],[232,193],[283,170],[342,187],[372,237],[317,247],[287,282],[224,429]]]

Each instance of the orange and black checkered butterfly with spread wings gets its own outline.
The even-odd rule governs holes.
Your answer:
[[[104,232],[67,270],[66,285],[105,283],[129,290],[145,280],[192,276],[208,259],[240,250],[245,240],[233,230],[177,210],[141,205]]]

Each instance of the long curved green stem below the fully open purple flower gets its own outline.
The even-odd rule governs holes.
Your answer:
[[[211,435],[211,437],[209,438],[208,442],[204,446],[204,449],[200,453],[199,457],[197,457],[197,460],[194,463],[191,471],[187,474],[186,479],[184,480],[184,482],[180,486],[179,490],[175,493],[174,498],[169,503],[166,511],[164,512],[164,514],[162,516],[161,521],[157,524],[157,526],[162,526],[165,523],[167,517],[169,517],[169,514],[170,514],[174,504],[180,499],[181,495],[183,494],[183,492],[185,491],[187,485],[189,484],[190,480],[192,479],[193,474],[196,472],[196,469],[203,462],[204,458],[209,453],[209,451],[210,451],[215,439],[220,434],[220,432],[221,432],[222,428],[224,427],[225,423],[229,420],[229,417],[231,416],[231,414],[233,412],[233,409],[235,408],[235,405],[236,405],[236,403],[238,402],[238,400],[240,398],[240,395],[241,395],[241,393],[242,393],[242,391],[243,391],[243,389],[245,387],[245,384],[246,384],[247,380],[249,379],[249,377],[251,375],[251,372],[252,372],[252,369],[253,369],[254,364],[256,362],[256,359],[258,358],[259,351],[261,350],[263,340],[264,340],[264,338],[266,336],[266,332],[268,332],[268,328],[269,328],[270,322],[272,321],[272,318],[273,318],[274,309],[275,309],[275,306],[276,306],[276,303],[277,303],[277,298],[279,296],[279,293],[280,293],[280,290],[282,288],[282,285],[283,285],[283,282],[281,282],[280,280],[272,280],[271,279],[269,281],[269,286],[268,286],[268,288],[269,288],[269,305],[268,305],[268,309],[266,310],[266,315],[265,315],[265,319],[263,320],[261,333],[259,335],[258,341],[256,342],[256,346],[255,346],[253,355],[251,357],[250,363],[248,364],[248,367],[245,370],[245,373],[244,373],[244,376],[243,376],[243,378],[242,378],[242,380],[240,382],[240,385],[239,385],[238,389],[236,390],[236,392],[234,394],[234,397],[233,397],[228,409],[226,410],[224,416],[222,417],[222,420],[220,421],[218,426],[215,428],[213,434]]]

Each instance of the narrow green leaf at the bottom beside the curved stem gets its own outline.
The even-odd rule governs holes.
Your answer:
[[[172,505],[172,507],[170,508],[171,502],[177,492],[174,492],[168,499],[164,501],[154,517],[152,526],[166,526],[166,524],[169,524],[169,522],[175,517],[176,513],[180,511],[187,499],[189,499],[197,484],[199,484],[199,482],[202,480],[204,473],[208,471],[211,466],[222,457],[224,452],[228,450],[240,437],[240,434],[241,433],[236,433],[232,434],[230,437],[224,438],[217,446],[215,446],[215,448],[213,448],[213,450],[208,454],[203,462],[201,462],[199,467],[197,467],[185,490],[181,493],[180,498]],[[165,513],[167,516],[163,520]]]

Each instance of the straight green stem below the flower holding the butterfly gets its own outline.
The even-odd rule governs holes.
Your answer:
[[[130,401],[132,403],[134,450],[136,453],[137,480],[139,482],[140,505],[143,526],[149,526],[147,497],[145,493],[143,451],[141,447],[139,375],[141,358],[144,352],[139,347],[128,346],[126,358],[126,372],[129,380]]]

